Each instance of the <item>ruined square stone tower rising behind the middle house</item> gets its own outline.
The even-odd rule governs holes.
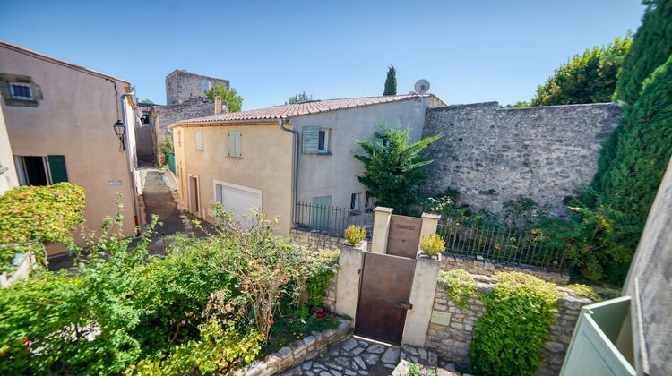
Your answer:
[[[178,105],[189,98],[203,97],[206,90],[210,90],[218,83],[229,88],[228,80],[176,69],[166,76],[166,104]]]

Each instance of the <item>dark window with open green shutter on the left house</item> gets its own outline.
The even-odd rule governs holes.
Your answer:
[[[21,185],[47,185],[68,181],[65,156],[16,156],[14,162]]]

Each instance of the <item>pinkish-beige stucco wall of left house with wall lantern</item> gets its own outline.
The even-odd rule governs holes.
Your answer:
[[[103,217],[116,214],[116,192],[121,192],[124,233],[132,235],[133,184],[125,151],[119,150],[112,127],[119,103],[112,81],[2,44],[0,73],[30,76],[43,96],[37,107],[7,106],[2,100],[13,155],[65,155],[69,181],[81,185],[86,192],[84,218],[92,229],[99,228]],[[119,96],[130,85],[121,80],[114,82]],[[133,109],[130,103],[126,107],[132,122]],[[134,126],[129,129],[134,148]],[[121,185],[111,186],[111,180],[119,180]]]

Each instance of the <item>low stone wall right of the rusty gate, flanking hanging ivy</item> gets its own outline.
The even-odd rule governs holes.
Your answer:
[[[495,282],[492,278],[478,278],[478,281],[478,295],[490,292]],[[592,302],[588,299],[572,296],[560,299],[556,322],[551,325],[550,338],[542,350],[544,361],[536,374],[556,375],[560,372],[581,307],[590,303]],[[426,348],[435,351],[443,360],[466,369],[469,365],[469,346],[474,326],[483,312],[483,303],[478,299],[471,299],[465,309],[458,308],[448,299],[445,286],[439,283],[427,330]]]

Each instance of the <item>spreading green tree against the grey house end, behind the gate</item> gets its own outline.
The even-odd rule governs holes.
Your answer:
[[[442,134],[409,144],[409,129],[393,130],[381,125],[377,141],[360,139],[365,155],[356,155],[364,164],[364,175],[359,182],[379,205],[409,214],[410,206],[419,202],[419,186],[427,177],[425,167],[433,162],[421,151]]]

